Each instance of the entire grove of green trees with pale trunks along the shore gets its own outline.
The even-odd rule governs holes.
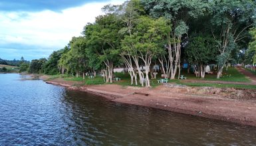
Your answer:
[[[251,0],[130,0],[106,5],[103,15],[84,26],[42,65],[45,74],[96,72],[113,82],[115,67],[125,67],[131,84],[150,86],[152,62],[165,78],[180,76],[182,65],[217,65],[217,78],[229,63],[255,62],[255,10]],[[33,67],[33,72],[40,72]],[[40,66],[40,65],[39,65]],[[33,69],[34,68],[34,69]],[[137,77],[138,76],[138,77]]]

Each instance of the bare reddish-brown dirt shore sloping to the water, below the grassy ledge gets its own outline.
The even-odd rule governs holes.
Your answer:
[[[74,82],[65,82],[63,80],[48,80],[45,82],[47,84],[63,86],[69,90],[78,90],[102,96],[111,102],[164,109],[176,113],[256,127],[256,100],[235,100],[217,95],[202,96],[171,92],[164,93],[164,90],[159,88],[145,89],[130,86],[123,87],[115,84],[77,87],[73,86]],[[162,88],[168,89],[165,86],[162,86]]]

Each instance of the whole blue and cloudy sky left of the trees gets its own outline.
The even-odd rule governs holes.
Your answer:
[[[124,0],[1,0],[0,58],[48,58],[80,36],[87,23],[102,14],[104,5]]]

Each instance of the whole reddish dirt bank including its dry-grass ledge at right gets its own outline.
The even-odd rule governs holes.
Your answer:
[[[47,83],[64,86],[70,90],[97,94],[112,102],[256,126],[255,90],[190,88],[172,85],[162,85],[157,88],[123,87],[114,84],[77,86],[78,82],[61,79],[47,81]]]

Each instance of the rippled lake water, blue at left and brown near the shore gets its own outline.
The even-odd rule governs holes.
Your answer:
[[[255,127],[19,79],[0,74],[0,145],[256,145]]]

